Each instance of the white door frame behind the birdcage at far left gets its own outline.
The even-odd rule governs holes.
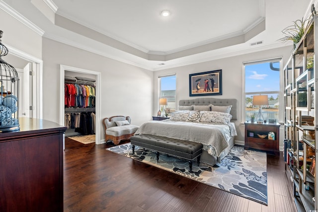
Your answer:
[[[8,54],[19,57],[33,64],[32,117],[43,119],[43,61],[14,47],[6,45]]]

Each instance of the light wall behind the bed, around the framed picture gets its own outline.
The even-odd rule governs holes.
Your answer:
[[[238,99],[238,121],[236,121],[236,127],[238,130],[237,141],[244,141],[244,125],[241,123],[242,111],[243,111],[243,63],[257,60],[271,59],[276,57],[283,57],[283,63],[289,59],[291,55],[291,48],[284,47],[273,50],[261,51],[252,54],[245,54],[236,57],[209,61],[205,63],[183,66],[163,71],[156,71],[154,74],[154,108],[153,111],[157,111],[158,105],[158,76],[176,73],[176,102],[178,104],[181,99],[193,99],[200,97],[189,96],[189,74],[214,71],[222,69],[222,95],[215,96],[202,96],[203,97],[214,97],[214,98],[236,98]],[[284,62],[285,61],[285,62]],[[271,83],[270,81],[268,83]],[[177,105],[178,106],[178,105]],[[155,113],[154,112],[154,113]],[[155,114],[154,114],[155,115]],[[281,141],[282,142],[282,141]],[[283,144],[281,143],[280,146]]]

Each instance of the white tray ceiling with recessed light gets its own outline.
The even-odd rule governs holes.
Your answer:
[[[309,13],[313,1],[0,0],[0,6],[44,37],[157,71],[284,46],[281,30]],[[171,15],[160,16],[162,10]]]

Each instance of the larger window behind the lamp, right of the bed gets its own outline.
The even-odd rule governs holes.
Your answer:
[[[271,122],[282,120],[279,112],[283,101],[283,98],[280,99],[281,59],[245,63],[243,73],[245,78],[243,119],[250,121],[250,116],[256,117],[261,107],[263,120]],[[253,105],[254,95],[267,95],[268,105]],[[257,121],[256,118],[255,121]]]

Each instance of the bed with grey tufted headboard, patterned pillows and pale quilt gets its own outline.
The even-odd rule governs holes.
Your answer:
[[[237,132],[233,120],[237,120],[236,99],[180,100],[178,110],[170,119],[144,123],[135,135],[149,134],[202,143],[200,162],[214,165],[234,145]]]

